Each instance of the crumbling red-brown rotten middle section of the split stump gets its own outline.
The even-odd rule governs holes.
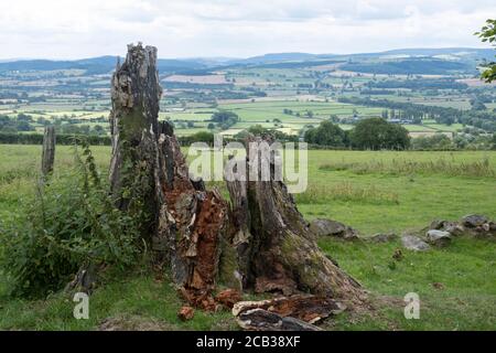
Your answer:
[[[194,306],[215,309],[211,296],[215,288],[220,238],[227,231],[227,203],[216,190],[190,179],[177,139],[160,137],[160,182],[164,203],[159,215],[157,240],[165,244],[172,275],[183,296]],[[200,186],[200,188],[198,188]]]

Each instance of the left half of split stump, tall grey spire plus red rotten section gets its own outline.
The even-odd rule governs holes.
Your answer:
[[[129,45],[112,77],[111,192],[121,210],[144,213],[143,238],[188,301],[212,307],[227,204],[190,180],[172,126],[158,121],[161,92],[157,49]]]

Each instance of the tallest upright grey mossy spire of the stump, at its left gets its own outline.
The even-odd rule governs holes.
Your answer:
[[[110,188],[121,210],[134,205],[148,212],[157,208],[153,168],[162,89],[155,65],[155,47],[128,45],[126,61],[117,63],[111,81]],[[138,201],[145,204],[136,204]]]

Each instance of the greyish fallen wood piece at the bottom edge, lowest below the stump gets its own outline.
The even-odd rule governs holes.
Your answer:
[[[314,324],[281,317],[263,309],[250,309],[236,318],[239,327],[250,331],[322,331]]]

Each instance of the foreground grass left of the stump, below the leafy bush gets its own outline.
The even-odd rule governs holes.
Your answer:
[[[139,328],[155,323],[163,330],[234,329],[230,312],[196,310],[194,320],[183,322],[177,311],[183,306],[170,280],[158,280],[149,274],[130,274],[107,279],[105,287],[89,298],[89,320],[75,320],[75,302],[56,293],[45,300],[26,301],[7,297],[0,284],[1,330],[94,330],[107,318],[123,318]]]

